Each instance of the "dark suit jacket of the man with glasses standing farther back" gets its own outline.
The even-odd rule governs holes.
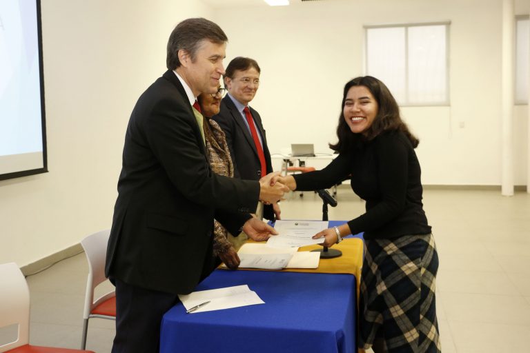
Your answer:
[[[252,117],[259,134],[262,136],[263,152],[267,165],[267,173],[273,172],[271,163],[271,153],[268,152],[267,139],[262,124],[262,117],[249,106]],[[241,114],[237,111],[234,102],[228,95],[221,101],[219,114],[213,117],[226,134],[226,143],[230,149],[230,155],[234,163],[234,176],[240,179],[259,180],[262,177],[262,165],[259,163],[257,150],[252,139],[251,132],[248,131]],[[263,216],[273,220],[274,212],[271,205],[265,205]]]

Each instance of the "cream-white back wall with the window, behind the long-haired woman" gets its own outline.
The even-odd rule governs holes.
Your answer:
[[[242,55],[262,68],[251,105],[264,119],[271,153],[290,143],[315,143],[317,152],[330,152],[344,83],[364,74],[364,25],[451,21],[451,106],[409,107],[402,114],[421,140],[425,184],[500,185],[501,5],[324,0],[223,9],[214,18],[230,39],[226,62]],[[529,1],[516,1],[518,14],[529,7]],[[515,110],[516,185],[526,183],[526,109]]]

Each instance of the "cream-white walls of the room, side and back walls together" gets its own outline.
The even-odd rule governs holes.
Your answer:
[[[501,0],[374,2],[213,10],[186,0],[42,0],[50,172],[0,181],[0,263],[27,265],[110,227],[130,111],[164,72],[170,31],[187,17],[224,28],[226,63],[244,55],[262,66],[253,106],[271,152],[291,142],[328,151],[342,87],[363,74],[363,24],[450,20],[451,107],[403,111],[422,139],[424,183],[500,185]],[[516,1],[516,13],[529,10]],[[527,109],[514,110],[516,184],[526,177]]]

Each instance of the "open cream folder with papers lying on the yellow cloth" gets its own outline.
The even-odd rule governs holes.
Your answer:
[[[298,248],[271,248],[266,244],[246,243],[237,252],[241,260],[239,268],[318,268],[320,252],[297,250]]]

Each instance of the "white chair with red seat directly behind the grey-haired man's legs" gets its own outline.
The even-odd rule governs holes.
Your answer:
[[[101,230],[101,232],[91,234],[81,241],[81,246],[83,246],[88,260],[88,279],[86,281],[85,308],[83,310],[83,336],[81,338],[82,350],[86,347],[88,319],[97,317],[116,320],[115,290],[94,300],[94,289],[99,284],[107,281],[105,277],[105,259],[109,235],[110,230]]]

